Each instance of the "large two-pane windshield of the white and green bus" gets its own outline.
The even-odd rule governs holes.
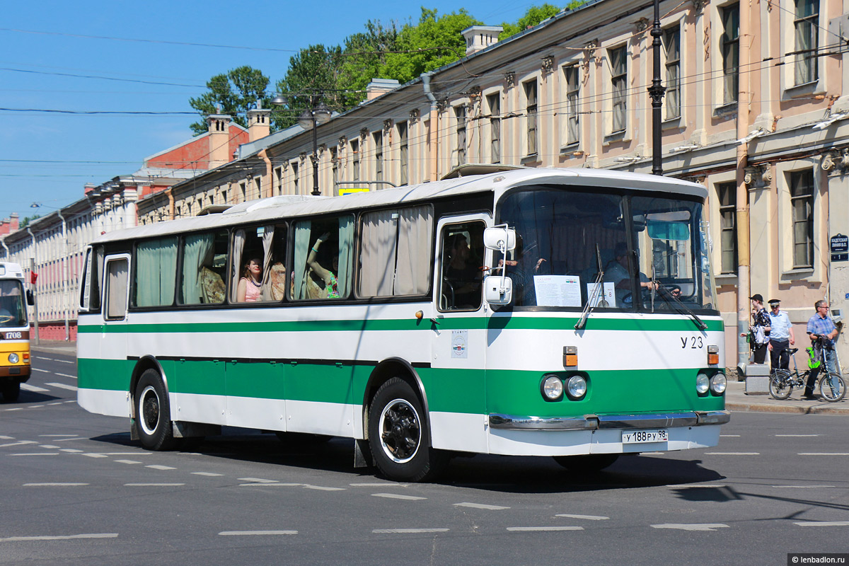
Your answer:
[[[669,194],[523,188],[499,207],[517,242],[494,273],[506,269],[519,308],[714,311],[702,210]]]

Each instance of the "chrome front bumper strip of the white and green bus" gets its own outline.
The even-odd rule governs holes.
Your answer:
[[[489,426],[501,430],[669,429],[724,424],[728,411],[665,412],[649,415],[584,415],[583,417],[517,417],[491,414]]]

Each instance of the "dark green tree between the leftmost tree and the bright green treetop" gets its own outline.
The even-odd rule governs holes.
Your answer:
[[[273,129],[295,124],[298,115],[309,109],[320,95],[323,102],[334,106],[342,48],[327,48],[321,44],[301,49],[289,59],[286,76],[277,82],[277,90],[287,98],[287,104],[272,113]]]

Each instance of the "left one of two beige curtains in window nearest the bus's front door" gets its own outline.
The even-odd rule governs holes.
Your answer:
[[[363,215],[360,269],[360,294],[363,297],[391,296],[397,233],[396,210],[380,210]]]

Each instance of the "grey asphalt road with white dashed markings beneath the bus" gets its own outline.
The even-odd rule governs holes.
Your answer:
[[[719,446],[452,461],[440,483],[352,467],[350,440],[230,429],[143,451],[76,406],[76,365],[36,353],[0,405],[0,564],[786,564],[849,552],[849,418],[735,412]]]

